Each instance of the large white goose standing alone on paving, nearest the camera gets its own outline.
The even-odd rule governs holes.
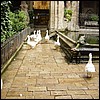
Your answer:
[[[92,63],[92,53],[89,53],[89,61],[85,66],[85,72],[87,72],[87,77],[91,78],[92,77],[92,73],[91,72],[95,72],[95,67]]]

